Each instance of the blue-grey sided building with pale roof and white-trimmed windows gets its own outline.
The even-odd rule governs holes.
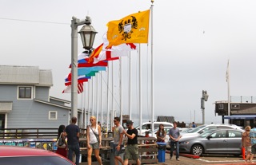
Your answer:
[[[58,128],[69,124],[70,101],[50,96],[52,86],[51,70],[0,65],[0,128]],[[78,110],[78,117],[80,114]]]

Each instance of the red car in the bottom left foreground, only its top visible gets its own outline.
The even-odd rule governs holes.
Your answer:
[[[0,146],[1,165],[75,165],[52,151],[32,147]]]

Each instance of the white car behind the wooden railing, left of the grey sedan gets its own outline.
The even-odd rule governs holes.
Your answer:
[[[154,130],[158,130],[159,125],[163,124],[163,126],[166,127],[174,127],[174,124],[169,123],[169,122],[164,122],[164,121],[155,121],[154,122]],[[138,130],[138,136],[145,136],[146,132],[149,132],[151,130],[152,122],[146,122],[142,123],[142,130],[140,130],[139,125],[134,127]]]

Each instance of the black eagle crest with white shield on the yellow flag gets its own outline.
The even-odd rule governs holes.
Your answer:
[[[127,20],[122,20],[118,23],[118,31],[122,33],[122,40],[126,41],[126,39],[131,38],[131,33],[133,33],[133,29],[138,28],[138,21],[136,17],[130,16]]]

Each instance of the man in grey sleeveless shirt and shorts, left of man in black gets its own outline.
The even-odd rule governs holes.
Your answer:
[[[113,145],[113,152],[114,152],[114,164],[118,165],[118,161],[120,163],[122,163],[123,165],[123,161],[122,158],[120,156],[121,151],[122,151],[122,147],[123,147],[123,127],[120,124],[120,118],[119,117],[114,117],[114,125],[115,127],[112,128],[112,132],[113,132],[113,138],[114,138],[114,145]]]

